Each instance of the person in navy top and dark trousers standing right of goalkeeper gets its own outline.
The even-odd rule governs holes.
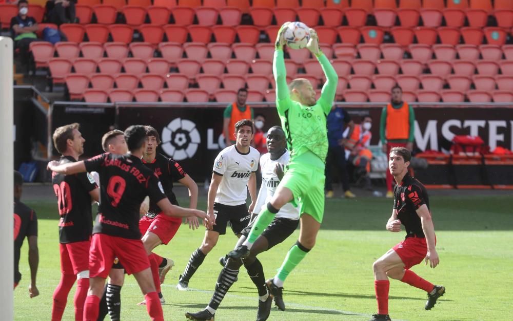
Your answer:
[[[344,190],[344,197],[356,197],[349,187],[347,175],[345,144],[347,137],[351,137],[354,130],[354,122],[347,111],[342,107],[333,107],[326,120],[328,127],[328,155],[326,157],[326,197],[333,197],[333,172],[335,165],[339,172],[340,182]]]

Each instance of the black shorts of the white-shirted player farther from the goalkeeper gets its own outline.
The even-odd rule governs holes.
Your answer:
[[[212,227],[212,231],[216,231],[220,235],[226,234],[228,222],[230,222],[233,233],[239,234],[243,228],[248,226],[251,218],[246,204],[232,206],[220,203],[214,203],[214,217],[215,225]]]

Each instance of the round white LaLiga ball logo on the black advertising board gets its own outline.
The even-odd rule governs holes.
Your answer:
[[[196,124],[190,120],[175,118],[162,130],[162,149],[174,160],[192,158],[201,143]]]

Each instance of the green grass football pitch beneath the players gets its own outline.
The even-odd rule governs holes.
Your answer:
[[[476,196],[478,195],[478,196]],[[205,208],[200,197],[199,208]],[[419,265],[413,271],[433,284],[444,285],[446,294],[431,311],[424,310],[426,293],[396,280],[390,281],[389,311],[402,320],[506,320],[511,319],[513,294],[513,213],[511,195],[432,196],[440,265]],[[37,286],[40,296],[30,299],[27,245],[22,248],[23,279],[14,291],[15,320],[49,320],[52,293],[60,279],[56,204],[53,198],[23,198],[39,218],[40,265]],[[186,201],[180,199],[182,204]],[[269,320],[366,320],[376,313],[372,262],[404,238],[404,231],[391,233],[385,223],[392,202],[384,198],[330,199],[317,245],[291,273],[285,283],[286,311],[273,307]],[[178,275],[190,254],[199,247],[203,229],[183,225],[167,246],[156,252],[172,258],[162,292],[166,320],[184,320],[185,312],[204,309],[210,301],[221,266],[220,256],[235,244],[227,234],[207,256],[192,277],[192,291],[175,289]],[[266,277],[274,275],[299,230],[284,243],[259,257]],[[64,320],[73,320],[74,288],[68,296]],[[146,308],[137,306],[143,296],[132,276],[126,277],[122,294],[122,319],[148,319]],[[239,281],[226,295],[216,320],[254,320],[257,293],[242,268]],[[107,318],[108,319],[108,318]]]

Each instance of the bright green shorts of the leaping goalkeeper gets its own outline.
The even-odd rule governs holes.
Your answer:
[[[305,162],[306,159],[310,161]],[[320,164],[322,167],[319,166]],[[287,165],[279,186],[287,187],[292,191],[294,198],[291,203],[300,207],[301,215],[307,213],[315,221],[322,223],[324,181],[324,163],[313,153],[305,153]]]

